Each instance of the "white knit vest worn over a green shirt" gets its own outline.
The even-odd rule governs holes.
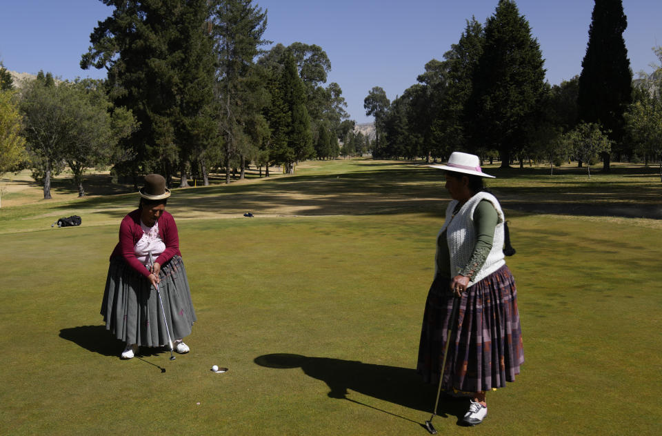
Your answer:
[[[447,230],[446,241],[448,242],[448,252],[450,254],[450,272],[451,275],[457,275],[459,270],[469,263],[474,247],[476,246],[476,232],[473,223],[474,210],[476,210],[481,200],[488,200],[492,203],[496,209],[496,213],[499,215],[499,221],[494,230],[492,250],[490,250],[488,258],[485,259],[483,267],[474,275],[473,280],[469,282],[469,286],[488,277],[488,275],[505,265],[503,255],[503,222],[505,221],[505,217],[499,201],[494,195],[488,192],[478,192],[463,204],[459,212],[453,217],[453,210],[458,203],[457,200],[453,200],[448,204],[448,208],[446,208],[446,221],[441,230],[439,230],[439,235],[441,235],[443,230]],[[437,238],[439,238],[439,235],[437,235]],[[439,246],[437,246],[437,251],[439,251]],[[437,265],[436,259],[434,264]]]

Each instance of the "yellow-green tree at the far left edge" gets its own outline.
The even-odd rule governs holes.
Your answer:
[[[17,170],[26,159],[26,139],[21,129],[16,92],[0,90],[0,176]]]

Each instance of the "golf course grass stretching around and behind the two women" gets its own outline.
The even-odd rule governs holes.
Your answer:
[[[439,434],[662,433],[659,220],[508,208],[656,208],[659,176],[485,171],[499,176],[492,188],[517,250],[507,260],[525,364],[488,393],[480,426],[457,425],[463,400],[442,402]],[[328,161],[294,177],[174,190],[168,210],[198,316],[191,353],[174,361],[146,348],[120,360],[123,344],[99,315],[119,221],[137,201],[0,210],[0,434],[427,434],[436,386],[414,368],[448,202],[442,172]],[[82,226],[50,228],[74,213]]]

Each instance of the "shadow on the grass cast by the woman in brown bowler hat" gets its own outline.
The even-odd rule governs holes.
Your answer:
[[[85,348],[92,353],[99,353],[100,355],[109,357],[114,356],[118,359],[119,354],[124,349],[124,343],[112,337],[108,330],[106,330],[106,326],[78,326],[63,328],[60,330],[60,337],[72,341],[74,344],[77,344],[81,348]],[[167,350],[161,348],[141,347],[137,358],[150,365],[156,366],[161,370],[161,373],[165,373],[165,368],[161,368],[161,366],[152,364],[150,361],[141,359],[141,357],[151,357],[167,352]]]

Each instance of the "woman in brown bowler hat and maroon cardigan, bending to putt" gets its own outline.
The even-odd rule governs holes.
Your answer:
[[[179,252],[177,226],[165,211],[170,190],[165,188],[163,176],[150,174],[139,194],[138,208],[126,215],[119,226],[119,242],[110,255],[101,315],[106,330],[126,342],[122,359],[134,357],[139,346],[168,344],[168,331],[176,339],[174,350],[188,353],[190,349],[182,338],[190,335],[197,318]]]

